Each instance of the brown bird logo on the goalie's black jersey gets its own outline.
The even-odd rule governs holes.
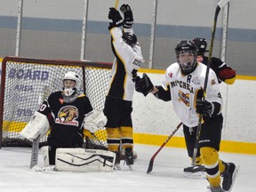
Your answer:
[[[76,118],[79,116],[78,109],[74,106],[64,106],[60,108],[58,118],[56,118],[56,124],[67,124],[78,126]]]

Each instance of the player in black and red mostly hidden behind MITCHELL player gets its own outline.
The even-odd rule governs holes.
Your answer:
[[[197,47],[197,61],[202,62],[203,64],[207,65],[208,57],[204,54],[207,49],[207,42],[205,38],[196,37],[192,40]],[[225,82],[226,84],[234,84],[236,80],[236,71],[230,68],[225,62],[220,60],[219,58],[212,57],[210,68],[215,72],[219,84],[221,82]],[[184,128],[184,137],[186,141],[186,146],[188,150],[188,156],[193,157],[193,150],[195,146],[196,140],[196,127],[195,128]],[[205,172],[204,165],[202,165],[202,159],[200,158],[199,150],[197,151],[196,155],[196,165],[189,166],[184,169],[184,173],[186,176],[196,175],[200,176],[201,172]]]

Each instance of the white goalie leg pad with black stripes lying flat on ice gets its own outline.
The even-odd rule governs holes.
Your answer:
[[[68,172],[113,172],[116,154],[84,148],[57,148],[55,169]]]

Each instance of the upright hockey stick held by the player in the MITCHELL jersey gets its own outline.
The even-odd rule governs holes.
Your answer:
[[[229,0],[220,0],[219,4],[216,7],[215,14],[214,14],[214,20],[213,20],[213,26],[212,26],[212,38],[211,38],[211,44],[210,44],[210,49],[209,49],[209,55],[208,55],[208,60],[207,60],[207,68],[206,68],[206,73],[205,73],[205,79],[204,79],[204,95],[206,95],[206,88],[207,88],[207,83],[208,83],[208,78],[209,78],[209,70],[212,62],[212,49],[213,49],[213,42],[214,42],[214,37],[215,37],[215,31],[216,31],[216,25],[217,25],[217,18],[219,15],[220,10],[225,6],[225,4],[228,3]],[[204,97],[203,99],[204,100]],[[192,164],[196,165],[196,154],[198,150],[198,143],[199,143],[199,137],[200,137],[200,132],[201,132],[201,127],[202,127],[202,120],[203,116],[200,115],[198,119],[198,125],[197,125],[197,130],[196,130],[196,141],[195,141],[195,147],[193,151],[193,160]]]

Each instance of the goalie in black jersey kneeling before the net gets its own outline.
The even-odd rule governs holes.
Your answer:
[[[81,83],[75,72],[68,71],[63,76],[62,83],[62,91],[52,92],[20,132],[28,140],[36,140],[44,137],[51,127],[47,138],[48,146],[43,147],[45,165],[55,164],[58,148],[73,148],[68,152],[78,156],[76,148],[83,146],[84,129],[94,133],[107,123],[107,117],[102,112],[93,110],[88,97],[78,92]],[[86,154],[86,151],[83,149],[82,153]],[[72,163],[68,162],[67,166]],[[73,167],[76,170],[75,164]],[[73,171],[72,167],[69,171]]]

